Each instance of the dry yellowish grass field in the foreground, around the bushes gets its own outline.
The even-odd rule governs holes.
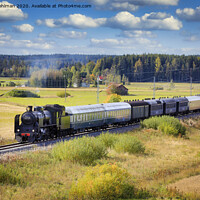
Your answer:
[[[115,164],[126,169],[135,187],[148,191],[145,199],[199,199],[199,191],[178,193],[173,184],[200,174],[199,120],[194,123],[198,126],[187,127],[188,139],[162,135],[152,129],[129,132],[145,145],[145,154],[131,155],[109,150],[108,157],[98,163]],[[16,184],[6,179],[7,183],[2,178],[5,182],[0,185],[0,199],[5,200],[68,199],[72,184],[93,167],[66,160],[55,161],[51,151],[9,155],[1,162],[8,173],[12,176],[16,174],[19,178]],[[188,180],[183,184],[186,183]]]

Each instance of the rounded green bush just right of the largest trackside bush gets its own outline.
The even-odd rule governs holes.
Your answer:
[[[114,145],[114,149],[118,153],[144,153],[144,145],[136,138],[131,135],[119,135],[118,140]]]

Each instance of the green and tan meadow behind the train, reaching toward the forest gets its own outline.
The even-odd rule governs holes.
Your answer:
[[[2,79],[1,79],[2,80]],[[4,79],[10,81],[12,79]],[[22,79],[21,81],[25,81]],[[13,81],[13,80],[12,80]],[[18,81],[18,80],[16,80]],[[27,80],[26,80],[27,81]],[[122,96],[124,100],[145,99],[153,97],[153,83],[131,83],[126,86],[129,91],[128,96]],[[156,83],[155,97],[173,97],[173,96],[189,96],[189,83],[174,83],[171,87],[170,83]],[[0,87],[0,137],[13,139],[14,117],[16,114],[22,114],[28,105],[44,106],[46,104],[60,104],[64,106],[78,106],[97,103],[97,88],[66,88],[70,94],[69,97],[60,98],[57,93],[65,91],[64,88],[30,88],[18,87],[17,89],[29,90],[40,95],[40,98],[17,98],[9,97],[7,93],[15,87]],[[106,86],[100,85],[99,103],[103,103],[106,98]],[[200,93],[200,84],[192,85],[192,94]]]

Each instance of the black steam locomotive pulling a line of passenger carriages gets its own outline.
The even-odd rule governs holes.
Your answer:
[[[152,116],[180,115],[200,111],[200,95],[64,107],[58,104],[28,106],[15,116],[18,142],[74,135],[78,132],[124,126]]]

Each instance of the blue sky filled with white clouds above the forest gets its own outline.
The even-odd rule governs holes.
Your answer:
[[[59,53],[200,55],[200,1],[0,1],[0,54]]]

